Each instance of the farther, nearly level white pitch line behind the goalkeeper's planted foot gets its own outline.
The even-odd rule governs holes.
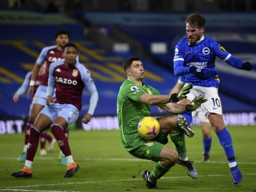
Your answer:
[[[0,157],[0,160],[16,160],[16,157]],[[56,157],[35,157],[38,160],[58,160]],[[151,162],[145,159],[139,158],[75,158],[75,160],[84,160],[84,161],[146,161]],[[202,162],[200,160],[194,161],[195,163],[214,163],[214,164],[228,164],[228,161],[208,161]],[[251,164],[256,165],[256,162],[237,162],[238,164]]]

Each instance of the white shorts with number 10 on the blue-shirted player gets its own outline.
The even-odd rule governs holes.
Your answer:
[[[187,94],[187,98],[192,101],[194,97],[199,95],[204,95],[205,98],[208,99],[207,102],[201,105],[204,116],[208,117],[210,113],[222,115],[222,106],[218,95],[218,88],[193,86],[193,88],[190,89],[190,93]]]

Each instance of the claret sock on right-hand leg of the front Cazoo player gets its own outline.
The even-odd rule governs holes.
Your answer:
[[[66,138],[63,128],[58,124],[51,125],[51,132],[57,140],[58,146],[65,156],[71,156],[68,138]]]

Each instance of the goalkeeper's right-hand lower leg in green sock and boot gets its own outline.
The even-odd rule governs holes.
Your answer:
[[[198,174],[196,172],[196,168],[193,166],[190,160],[188,160],[184,132],[182,130],[171,132],[170,137],[178,151],[179,158],[177,163],[186,169],[188,176],[190,176],[193,179],[197,179]]]

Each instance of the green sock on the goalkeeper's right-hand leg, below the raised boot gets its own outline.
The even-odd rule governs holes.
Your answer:
[[[176,149],[178,151],[180,159],[184,159],[187,157],[186,152],[186,143],[185,143],[185,136],[182,130],[171,132],[170,137],[172,142],[174,142]]]

